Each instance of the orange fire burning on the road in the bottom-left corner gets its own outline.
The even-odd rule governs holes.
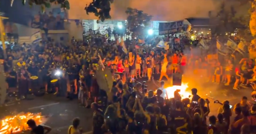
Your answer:
[[[5,117],[0,122],[0,134],[13,134],[28,130],[27,121],[29,119],[33,119],[35,123],[40,124],[42,122],[41,113],[20,113],[12,117]]]

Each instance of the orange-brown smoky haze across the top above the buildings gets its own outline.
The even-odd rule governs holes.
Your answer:
[[[94,14],[86,15],[84,10],[86,4],[89,5],[91,1],[69,0],[69,19],[97,19]],[[126,20],[125,10],[130,7],[153,15],[153,20],[177,21],[189,17],[208,17],[209,11],[215,14],[221,2],[222,0],[114,0],[110,15],[113,20]],[[241,9],[238,3],[227,3]]]

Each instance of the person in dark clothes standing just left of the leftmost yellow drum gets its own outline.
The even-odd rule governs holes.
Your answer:
[[[26,73],[25,69],[21,69],[20,74],[18,74],[18,81],[19,81],[19,97],[20,99],[24,99],[28,93],[28,79],[29,75]]]

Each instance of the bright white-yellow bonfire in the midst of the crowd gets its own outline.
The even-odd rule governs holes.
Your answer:
[[[171,86],[165,88],[167,90],[168,99],[174,98],[174,91],[180,89],[180,96],[182,99],[188,98],[191,93],[187,92],[186,89],[188,88],[188,83],[182,83],[181,86]]]

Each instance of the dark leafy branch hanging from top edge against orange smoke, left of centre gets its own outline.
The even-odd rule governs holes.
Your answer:
[[[93,0],[89,4],[89,6],[86,5],[85,10],[86,14],[89,15],[89,13],[94,13],[96,17],[99,17],[99,20],[105,21],[105,19],[111,19],[111,16],[109,14],[111,10],[111,3],[113,3],[114,0]],[[99,21],[97,21],[99,23]]]

